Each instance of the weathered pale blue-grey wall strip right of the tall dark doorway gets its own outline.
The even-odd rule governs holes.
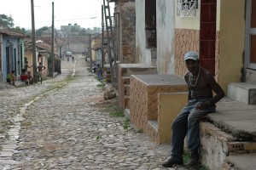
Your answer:
[[[160,74],[175,73],[175,26],[174,1],[161,0],[156,3],[157,70]]]

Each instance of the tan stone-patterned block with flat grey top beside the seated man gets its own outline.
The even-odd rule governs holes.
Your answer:
[[[176,75],[132,75],[130,81],[131,123],[144,132],[148,121],[158,119],[158,94],[188,92],[186,82]]]

